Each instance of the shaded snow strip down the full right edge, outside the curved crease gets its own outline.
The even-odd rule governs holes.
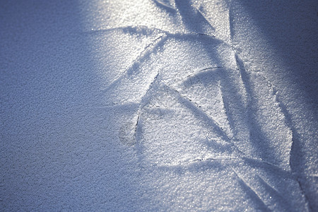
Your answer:
[[[317,183],[313,180],[315,185],[308,186],[310,182],[307,180],[312,177],[306,175],[308,172],[317,171],[314,170],[314,161],[317,159],[309,161],[309,158],[317,158],[317,151],[311,147],[316,143],[318,117],[317,1],[240,0],[238,2],[240,8],[245,10],[255,22],[257,30],[267,42],[269,49],[261,50],[275,52],[275,57],[278,58],[274,64],[265,62],[269,66],[266,72],[281,89],[279,98],[281,109],[288,126],[293,131],[290,167],[292,172],[298,175],[300,187],[304,187],[310,207],[315,211],[318,208],[317,192],[312,188],[317,188]],[[242,28],[243,25],[241,24],[240,27]],[[257,47],[251,48],[257,49]],[[288,85],[290,88],[286,88]],[[297,100],[293,100],[290,96]]]

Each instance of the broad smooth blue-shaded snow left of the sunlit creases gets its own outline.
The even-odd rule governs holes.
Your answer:
[[[139,211],[118,111],[100,108],[92,37],[78,1],[2,2],[4,211]],[[134,176],[134,177],[131,177]]]

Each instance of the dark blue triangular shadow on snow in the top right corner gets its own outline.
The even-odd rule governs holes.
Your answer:
[[[307,104],[317,112],[317,1],[240,0],[240,4],[283,59],[285,80],[304,90]]]

